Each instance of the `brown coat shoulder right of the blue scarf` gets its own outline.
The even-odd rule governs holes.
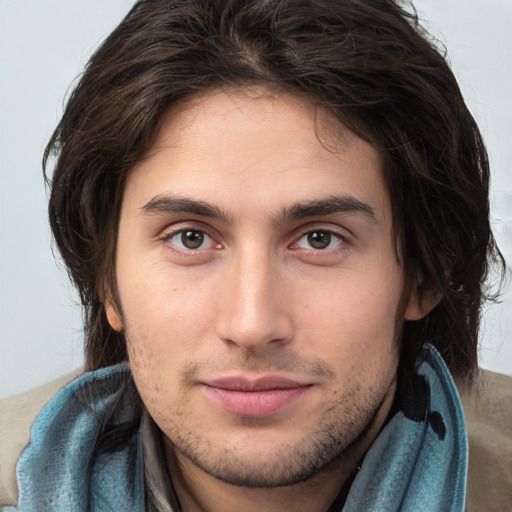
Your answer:
[[[512,503],[512,377],[482,370],[461,390],[469,442],[467,511]]]

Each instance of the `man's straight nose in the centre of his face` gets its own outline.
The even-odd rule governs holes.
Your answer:
[[[264,252],[246,250],[233,258],[222,285],[217,335],[248,351],[277,347],[293,338],[291,290],[279,262]]]

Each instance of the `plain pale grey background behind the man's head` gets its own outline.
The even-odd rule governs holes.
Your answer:
[[[0,0],[0,397],[82,362],[80,308],[50,251],[41,156],[63,98],[132,0]],[[493,224],[512,261],[512,0],[419,0],[446,44],[493,169]],[[512,297],[489,307],[482,366],[512,374]]]

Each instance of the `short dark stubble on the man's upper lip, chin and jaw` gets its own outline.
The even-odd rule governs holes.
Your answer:
[[[129,339],[128,346],[132,347],[130,357],[137,357],[133,347],[141,345]],[[181,391],[192,389],[195,376],[208,367],[211,370],[211,366],[211,363],[196,362],[185,369]],[[221,373],[227,368],[256,372],[297,371],[301,368],[302,373],[328,376],[330,379],[335,377],[334,370],[323,361],[299,362],[293,356],[269,359],[247,354],[243,361],[223,361],[215,370]],[[350,382],[364,382],[364,379],[358,375],[349,379]],[[300,438],[288,441],[276,437],[277,443],[270,448],[265,443],[260,444],[259,437],[262,432],[279,427],[278,420],[274,418],[234,417],[232,428],[237,433],[243,432],[250,441],[243,446],[229,446],[230,439],[226,438],[224,445],[219,445],[219,434],[222,433],[209,436],[206,418],[193,419],[179,406],[158,411],[154,409],[154,402],[147,405],[164,433],[166,449],[172,452],[174,460],[186,459],[206,474],[231,485],[269,489],[305,482],[347,463],[355,467],[360,457],[359,447],[365,444],[373,431],[393,382],[389,378],[384,386],[380,386],[378,393],[375,389],[363,389],[361,384],[348,387],[339,397],[334,396],[336,392],[322,404],[322,416],[315,424],[308,425]],[[144,396],[143,390],[140,391]],[[362,398],[364,402],[361,402]]]

